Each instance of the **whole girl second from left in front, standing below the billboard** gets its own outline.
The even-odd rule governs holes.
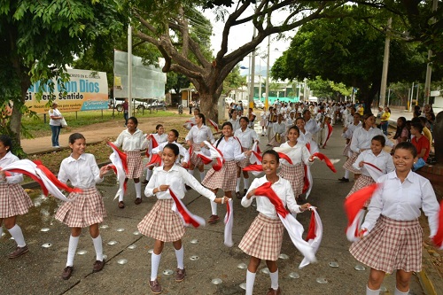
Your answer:
[[[69,180],[75,188],[82,189],[82,192],[72,192],[68,198],[75,198],[74,201],[63,203],[55,215],[58,221],[71,228],[66,268],[61,275],[64,280],[69,279],[73,273],[74,255],[82,228],[89,227],[89,234],[96,250],[96,262],[92,270],[97,272],[105,266],[98,223],[103,222],[106,210],[103,198],[96,189],[96,183],[103,182],[103,176],[110,169],[107,166],[98,169],[94,155],[85,153],[86,139],[80,133],[69,136],[69,147],[72,153],[61,162],[58,180],[63,183]]]

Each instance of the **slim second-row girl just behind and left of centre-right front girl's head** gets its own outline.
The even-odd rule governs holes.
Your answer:
[[[254,143],[259,143],[259,136],[257,132],[252,128],[248,127],[249,119],[246,117],[240,118],[240,128],[234,132],[234,136],[237,137],[238,141],[242,145],[242,151],[250,151],[253,148]],[[243,198],[246,191],[249,189],[249,174],[247,171],[243,171],[243,182],[244,182],[244,194],[240,195],[240,180],[241,180],[241,170],[248,166],[250,163],[251,156],[242,159],[237,163],[237,182],[236,182],[236,196],[237,198]]]

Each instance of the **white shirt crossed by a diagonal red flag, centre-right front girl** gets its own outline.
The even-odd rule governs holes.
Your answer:
[[[260,185],[268,182],[268,179],[265,176],[260,178],[255,178],[246,195],[251,191],[257,189]],[[279,177],[278,181],[274,182],[271,185],[271,189],[276,192],[278,198],[283,201],[284,206],[288,207],[291,212],[300,213],[300,206],[297,205],[297,202],[294,198],[294,191],[292,190],[291,183],[285,180],[282,177]],[[257,211],[266,215],[271,219],[278,219],[276,213],[276,207],[272,205],[271,201],[267,197],[253,196],[250,199],[245,197],[242,198],[242,206],[249,207],[253,203],[253,199],[256,199],[257,202]]]

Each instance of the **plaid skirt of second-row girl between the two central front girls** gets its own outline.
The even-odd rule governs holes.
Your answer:
[[[221,189],[224,191],[236,190],[237,162],[226,161],[219,171],[211,168],[205,176],[202,185],[211,190]]]

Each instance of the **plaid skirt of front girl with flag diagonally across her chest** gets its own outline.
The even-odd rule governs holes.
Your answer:
[[[284,225],[259,213],[238,245],[246,254],[260,260],[276,261],[282,250]]]

